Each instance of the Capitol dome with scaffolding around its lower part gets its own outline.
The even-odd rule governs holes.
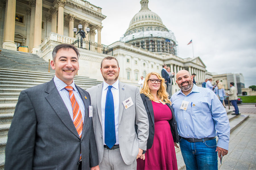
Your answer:
[[[161,18],[148,8],[148,0],[141,0],[141,10],[132,18],[120,41],[156,53],[177,55],[177,41]]]

